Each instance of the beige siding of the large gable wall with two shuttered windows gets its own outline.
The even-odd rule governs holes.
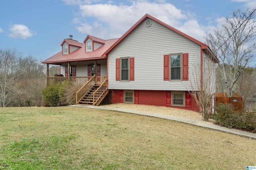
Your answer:
[[[139,25],[109,55],[109,89],[190,90],[190,81],[164,81],[164,55],[188,53],[189,75],[200,69],[200,45],[152,21]],[[116,81],[116,58],[134,57],[134,81]]]

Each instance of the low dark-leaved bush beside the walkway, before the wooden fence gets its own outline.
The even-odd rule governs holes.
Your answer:
[[[219,104],[214,108],[216,113],[213,114],[213,119],[218,125],[256,132],[255,111],[234,111],[232,104]]]

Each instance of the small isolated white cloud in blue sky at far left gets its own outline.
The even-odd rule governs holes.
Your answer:
[[[33,33],[26,25],[22,24],[14,24],[10,27],[9,36],[12,38],[22,38],[26,39],[28,37],[32,37],[35,33]]]

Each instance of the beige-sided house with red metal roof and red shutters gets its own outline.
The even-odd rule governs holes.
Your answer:
[[[191,73],[198,68],[202,83],[204,65],[218,63],[208,45],[148,14],[119,39],[88,35],[78,43],[70,37],[61,46],[62,51],[42,63],[60,65],[65,76],[48,77],[48,84],[68,78],[81,82],[84,90],[77,92],[78,104],[98,105],[108,94],[112,103],[198,111],[188,92],[195,78]]]

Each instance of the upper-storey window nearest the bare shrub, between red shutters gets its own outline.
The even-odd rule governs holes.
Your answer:
[[[181,72],[180,72],[180,54],[178,55],[170,55],[171,61],[171,80],[181,80]]]

